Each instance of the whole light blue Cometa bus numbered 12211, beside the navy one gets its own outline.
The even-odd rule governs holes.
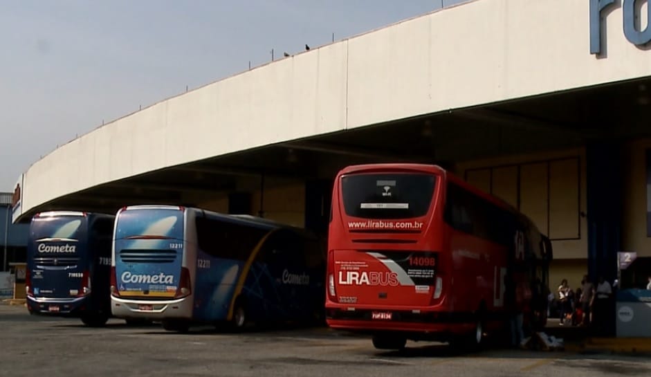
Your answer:
[[[199,208],[134,205],[116,215],[111,311],[192,324],[322,320],[325,253],[300,228]]]

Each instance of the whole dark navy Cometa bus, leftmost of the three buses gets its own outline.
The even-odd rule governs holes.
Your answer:
[[[106,324],[114,219],[70,211],[33,217],[26,273],[31,314],[77,317],[93,327]]]

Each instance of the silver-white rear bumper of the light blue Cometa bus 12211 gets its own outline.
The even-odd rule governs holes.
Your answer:
[[[192,296],[173,300],[134,300],[111,295],[111,313],[117,318],[191,320]],[[143,309],[143,305],[150,308]]]

